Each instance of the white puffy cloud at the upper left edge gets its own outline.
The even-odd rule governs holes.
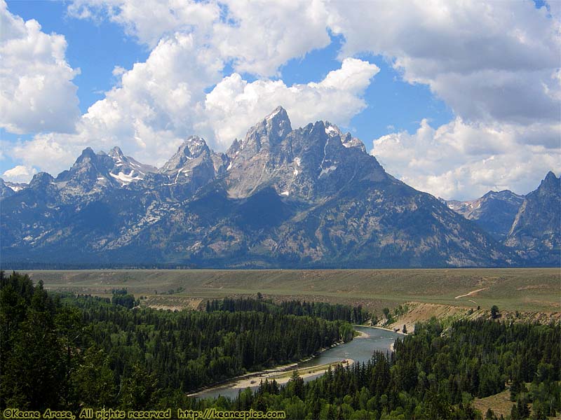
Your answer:
[[[0,30],[0,127],[18,134],[72,132],[80,116],[72,83],[79,69],[65,60],[65,37],[12,15],[4,0]]]

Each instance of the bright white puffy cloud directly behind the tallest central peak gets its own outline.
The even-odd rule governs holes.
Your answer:
[[[379,68],[360,59],[347,58],[340,69],[330,71],[320,83],[287,86],[282,80],[248,83],[234,73],[207,94],[203,123],[196,129],[208,132],[219,149],[240,139],[252,124],[276,106],[288,112],[293,127],[316,120],[346,125],[366,103],[362,94]]]

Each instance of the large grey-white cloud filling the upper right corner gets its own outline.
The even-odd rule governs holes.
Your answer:
[[[560,22],[534,1],[334,1],[342,55],[389,57],[464,120],[559,119]]]

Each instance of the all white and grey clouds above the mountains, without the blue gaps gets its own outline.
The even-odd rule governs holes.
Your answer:
[[[367,53],[386,57],[407,83],[428,85],[455,115],[441,127],[424,120],[417,132],[373,139],[372,153],[391,174],[434,195],[470,198],[491,188],[527,193],[548,169],[561,169],[555,4],[79,0],[68,12],[116,22],[151,54],[132,69],[116,69],[119,84],[79,116],[64,38],[43,34],[4,4],[0,15],[11,35],[3,35],[1,48],[11,58],[1,77],[8,75],[13,88],[2,90],[0,104],[21,105],[2,106],[0,124],[39,132],[7,152],[27,167],[58,172],[85,146],[115,144],[161,165],[194,133],[224,150],[278,104],[295,126],[316,119],[349,124],[365,109],[363,95],[379,71]],[[330,32],[344,38],[339,69],[316,83],[287,85],[278,78],[288,60],[329,45]],[[29,48],[31,39],[41,39],[43,48]],[[16,85],[18,62],[29,64],[23,73],[36,86],[41,76],[55,80],[29,89],[31,82],[17,76]],[[58,95],[49,94],[50,86]]]

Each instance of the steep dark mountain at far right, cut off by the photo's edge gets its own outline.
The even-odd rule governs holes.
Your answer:
[[[526,195],[508,232],[506,246],[536,265],[561,264],[561,178],[548,172]]]

